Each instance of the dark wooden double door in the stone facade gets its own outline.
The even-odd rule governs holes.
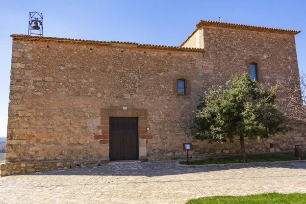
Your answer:
[[[138,159],[138,118],[110,117],[110,160]]]

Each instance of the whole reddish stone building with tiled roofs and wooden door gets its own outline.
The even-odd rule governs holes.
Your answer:
[[[1,175],[236,154],[239,142],[194,141],[201,95],[236,73],[264,86],[298,74],[300,31],[200,21],[181,46],[12,35],[6,163]],[[247,152],[291,150],[305,136],[247,141]]]

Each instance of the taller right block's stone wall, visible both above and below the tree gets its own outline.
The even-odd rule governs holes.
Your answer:
[[[290,74],[299,75],[294,35],[242,31],[202,26],[203,47],[209,67],[205,68],[208,85],[222,85],[236,73],[249,73],[249,64],[257,63],[258,81],[269,88],[277,80],[287,79]],[[201,38],[200,35],[200,38]],[[185,46],[185,45],[184,45]],[[203,67],[204,68],[204,67]],[[305,127],[271,139],[248,141],[247,152],[281,151],[293,149],[294,144],[306,144]],[[238,142],[221,145],[218,153],[240,152]],[[202,147],[205,152],[206,147]],[[201,149],[197,146],[196,149]]]

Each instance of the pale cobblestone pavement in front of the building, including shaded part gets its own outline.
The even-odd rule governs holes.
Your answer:
[[[0,203],[185,203],[191,198],[306,193],[306,163],[257,167],[176,167],[174,161],[0,177]]]

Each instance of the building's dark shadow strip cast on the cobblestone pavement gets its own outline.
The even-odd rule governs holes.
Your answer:
[[[224,167],[178,167],[176,160],[158,162],[110,162],[97,167],[70,168],[45,172],[25,173],[23,175],[96,175],[96,176],[166,176],[201,172],[231,171],[234,169],[269,169],[289,168],[306,170],[306,162],[275,164],[257,164],[252,166],[224,166]],[[242,172],[243,173],[243,172]],[[306,171],[301,172],[306,175]],[[20,175],[20,174],[19,174]],[[11,175],[14,176],[14,175]]]

